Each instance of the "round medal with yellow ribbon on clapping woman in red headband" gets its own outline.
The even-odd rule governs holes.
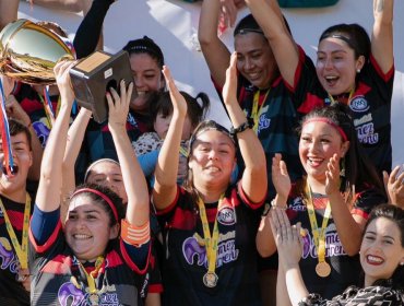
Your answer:
[[[308,199],[307,212],[309,214],[311,233],[313,236],[313,240],[314,240],[314,245],[316,245],[316,249],[318,254],[318,259],[319,259],[319,262],[316,266],[316,273],[320,278],[326,278],[331,274],[331,267],[325,261],[325,229],[326,229],[326,225],[329,223],[329,219],[331,215],[330,201],[328,201],[326,203],[322,224],[321,224],[321,227],[319,227],[317,224],[316,211],[314,211],[313,200],[311,196],[311,190],[310,190],[308,183],[306,185],[306,198]]]

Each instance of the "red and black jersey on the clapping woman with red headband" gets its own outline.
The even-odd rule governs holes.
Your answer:
[[[319,227],[321,227],[328,201],[326,196],[313,193],[313,207]],[[356,195],[350,213],[367,219],[371,209],[383,202],[382,195],[373,189],[367,189]],[[319,260],[307,207],[302,197],[296,195],[295,188],[293,188],[287,203],[290,223],[300,222],[305,232],[299,266],[307,290],[331,299],[335,295],[342,294],[349,285],[359,285],[361,271],[359,256],[350,257],[345,252],[332,217],[332,211],[325,228],[325,261],[331,266],[331,274],[326,278],[320,278],[316,273]]]

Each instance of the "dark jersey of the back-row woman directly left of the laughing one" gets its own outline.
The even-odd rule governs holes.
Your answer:
[[[222,87],[217,84],[215,84],[215,87],[223,103]],[[298,110],[300,103],[292,98],[288,85],[282,76],[275,78],[269,89],[260,91],[241,73],[238,73],[238,102],[247,117],[252,117],[253,99],[257,92],[260,93],[259,108],[261,109],[258,118],[257,136],[265,152],[268,175],[271,177],[272,157],[275,153],[281,153],[288,167],[292,181],[296,181],[301,178],[304,173],[299,160],[299,141],[296,131],[302,115],[310,109]],[[240,173],[242,173],[242,158],[238,156],[237,161]],[[270,202],[275,197],[276,190],[272,179],[269,179],[268,184],[268,201]]]

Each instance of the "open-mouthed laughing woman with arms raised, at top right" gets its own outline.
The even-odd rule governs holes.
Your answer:
[[[299,110],[335,102],[348,105],[364,152],[380,177],[383,170],[390,173],[394,0],[373,0],[371,39],[356,23],[326,28],[319,38],[316,66],[285,30],[277,1],[246,3],[270,42]]]

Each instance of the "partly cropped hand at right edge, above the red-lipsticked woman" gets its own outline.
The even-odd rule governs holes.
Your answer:
[[[404,165],[395,166],[390,176],[383,172],[383,181],[389,202],[404,209]]]

